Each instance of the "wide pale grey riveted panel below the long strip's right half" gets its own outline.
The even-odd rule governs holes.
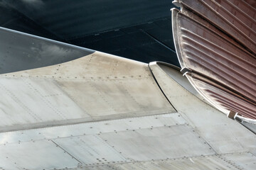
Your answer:
[[[134,161],[215,154],[188,125],[102,133],[100,137]]]

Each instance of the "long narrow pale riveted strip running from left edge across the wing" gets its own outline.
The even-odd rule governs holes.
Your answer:
[[[20,130],[0,133],[0,144],[18,143],[35,140],[48,140],[59,137],[96,135],[105,132],[120,132],[125,130],[138,130],[151,127],[164,127],[182,125],[186,121],[178,113],[149,115],[139,118],[126,118],[107,120],[76,125],[63,125],[51,128]]]

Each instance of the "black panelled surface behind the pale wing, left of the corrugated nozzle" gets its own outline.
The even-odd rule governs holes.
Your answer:
[[[141,62],[179,65],[170,0],[0,0],[0,26]]]

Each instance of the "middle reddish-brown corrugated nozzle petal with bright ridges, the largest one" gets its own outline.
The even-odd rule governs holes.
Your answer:
[[[183,13],[174,10],[173,16],[183,67],[216,79],[256,103],[254,56],[223,39],[223,33],[209,30]]]

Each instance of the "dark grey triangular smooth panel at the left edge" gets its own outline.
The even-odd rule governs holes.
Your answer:
[[[0,27],[0,74],[68,62],[93,52]]]

